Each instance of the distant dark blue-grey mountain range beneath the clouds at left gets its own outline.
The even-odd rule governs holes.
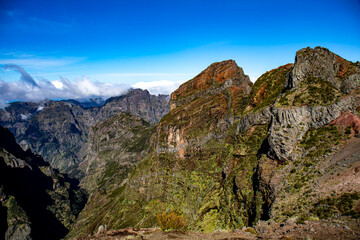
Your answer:
[[[86,108],[77,101],[11,103],[0,109],[0,124],[9,128],[24,148],[42,155],[51,166],[81,178],[78,168],[88,149],[90,127],[122,112],[156,123],[169,111],[168,96],[135,89]]]

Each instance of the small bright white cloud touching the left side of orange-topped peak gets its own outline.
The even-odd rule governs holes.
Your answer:
[[[141,88],[147,89],[151,94],[171,94],[175,91],[182,81],[168,81],[168,80],[161,80],[161,81],[151,81],[151,82],[137,82],[131,87],[133,88]]]

